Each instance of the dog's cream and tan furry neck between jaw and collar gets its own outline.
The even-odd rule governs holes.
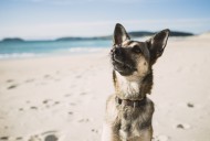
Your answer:
[[[140,100],[146,94],[150,94],[153,86],[153,73],[144,77],[125,77],[114,72],[116,95],[122,99]]]

